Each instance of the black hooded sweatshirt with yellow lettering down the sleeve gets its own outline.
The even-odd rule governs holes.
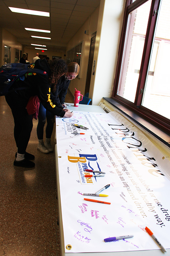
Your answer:
[[[48,75],[50,75],[50,68],[45,59],[36,60],[35,68],[39,68],[47,72]],[[65,111],[62,110],[63,107],[61,105],[55,105],[55,103],[53,102],[55,98],[53,92],[51,92],[51,85],[49,83],[47,74],[27,72],[24,76],[18,78],[18,80],[13,84],[11,89],[26,86],[27,89],[16,91],[18,95],[20,95],[27,102],[31,96],[37,95],[44,108],[46,108],[55,116],[63,117],[65,114]]]

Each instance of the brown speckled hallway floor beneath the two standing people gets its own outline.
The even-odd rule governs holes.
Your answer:
[[[72,102],[69,95],[66,102]],[[35,168],[14,166],[13,117],[0,97],[0,256],[60,256],[55,154],[37,150],[37,123],[33,119],[27,147]],[[54,136],[55,129],[53,146]]]

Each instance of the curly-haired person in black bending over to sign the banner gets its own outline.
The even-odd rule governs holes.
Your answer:
[[[54,60],[47,63],[46,60],[38,59],[35,64],[30,65],[31,68],[39,68],[44,71],[38,74],[33,71],[27,72],[21,78],[18,78],[12,84],[9,93],[5,99],[11,108],[14,118],[14,138],[18,148],[16,153],[15,166],[32,168],[35,164],[30,161],[34,159],[32,154],[26,152],[26,148],[30,139],[33,128],[33,117],[28,115],[26,110],[30,97],[37,95],[42,105],[53,115],[61,117],[71,117],[73,113],[69,109],[58,108],[51,100],[51,92],[55,92],[56,84],[59,78],[67,72],[67,64],[64,60]],[[48,75],[47,75],[48,74]],[[20,87],[28,87],[26,89],[18,89]]]

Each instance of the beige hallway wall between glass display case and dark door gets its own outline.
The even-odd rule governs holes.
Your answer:
[[[77,44],[83,41],[81,62],[80,62],[80,75],[70,82],[70,92],[74,95],[75,88],[84,95],[85,93],[85,83],[87,76],[88,60],[89,60],[89,50],[91,37],[94,32],[97,31],[98,24],[99,7],[91,14],[91,16],[85,21],[78,32],[72,37],[67,45],[67,50],[70,50]],[[89,34],[85,34],[85,30],[89,30]]]

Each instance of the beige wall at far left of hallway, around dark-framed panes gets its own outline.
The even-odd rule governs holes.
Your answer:
[[[4,64],[4,45],[11,46],[11,62],[15,62],[15,49],[22,50],[22,44],[17,42],[17,38],[2,28],[2,57],[1,66]]]

